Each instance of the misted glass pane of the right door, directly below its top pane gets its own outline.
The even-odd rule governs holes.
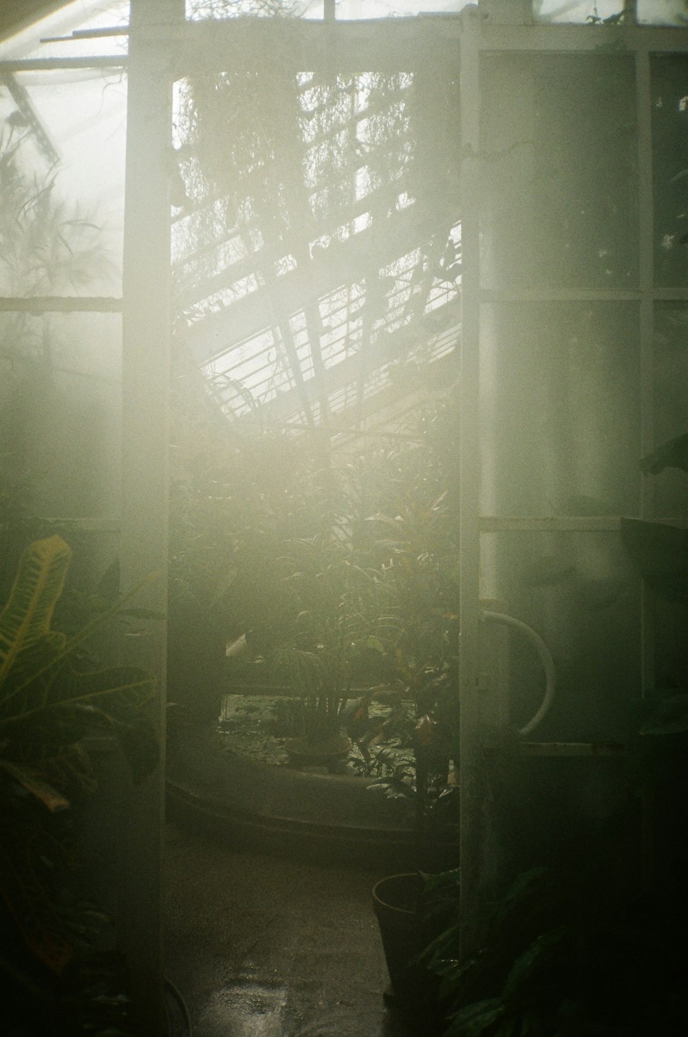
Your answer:
[[[486,306],[482,342],[483,513],[636,513],[635,306]]]

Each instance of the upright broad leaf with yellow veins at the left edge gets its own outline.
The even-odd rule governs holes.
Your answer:
[[[35,540],[22,555],[9,598],[0,613],[0,697],[19,653],[51,636],[53,611],[70,560],[71,549],[57,535]],[[54,636],[56,650],[59,637]]]

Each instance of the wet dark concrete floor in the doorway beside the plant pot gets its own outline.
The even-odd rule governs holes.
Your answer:
[[[168,826],[166,973],[195,1037],[409,1037],[388,1009],[381,874]]]

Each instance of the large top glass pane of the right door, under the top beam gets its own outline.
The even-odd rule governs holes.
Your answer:
[[[484,286],[634,286],[633,58],[489,56],[481,91]]]

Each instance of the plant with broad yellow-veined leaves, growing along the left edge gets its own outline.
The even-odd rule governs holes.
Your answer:
[[[0,973],[3,987],[10,979],[20,990],[13,1008],[35,1009],[40,1034],[48,1032],[40,1029],[46,1019],[59,1016],[61,999],[67,1012],[86,1010],[76,962],[88,960],[89,931],[104,922],[83,902],[74,877],[69,808],[95,781],[88,736],[115,738],[137,781],[157,763],[144,712],[152,677],[137,667],[93,668],[82,651],[108,614],[70,636],[52,627],[70,558],[57,535],[29,544],[0,613],[0,902],[7,923]],[[88,973],[83,961],[80,969]],[[11,999],[3,999],[3,1011],[11,1022]]]

